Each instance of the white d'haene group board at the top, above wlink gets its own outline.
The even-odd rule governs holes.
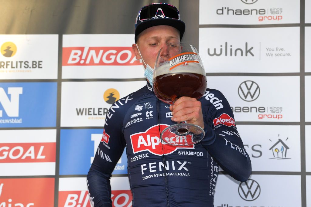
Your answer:
[[[200,25],[267,25],[299,23],[299,1],[200,0]]]

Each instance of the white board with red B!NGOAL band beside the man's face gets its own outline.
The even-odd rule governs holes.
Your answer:
[[[134,34],[63,35],[62,78],[142,78]]]

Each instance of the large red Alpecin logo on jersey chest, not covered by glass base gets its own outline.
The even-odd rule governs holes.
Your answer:
[[[168,126],[169,125],[167,124],[160,124],[160,131],[163,131]],[[149,151],[152,154],[161,156],[163,154],[171,154],[177,149],[194,149],[194,145],[177,147],[168,145],[162,141],[159,135],[159,125],[152,126],[144,132],[132,134],[130,139],[134,154],[138,152]]]

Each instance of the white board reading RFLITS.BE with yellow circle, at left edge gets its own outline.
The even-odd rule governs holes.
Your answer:
[[[0,35],[1,79],[57,79],[58,35]]]

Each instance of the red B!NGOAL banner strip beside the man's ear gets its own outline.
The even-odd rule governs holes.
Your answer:
[[[63,66],[130,66],[142,65],[132,47],[63,48]]]

